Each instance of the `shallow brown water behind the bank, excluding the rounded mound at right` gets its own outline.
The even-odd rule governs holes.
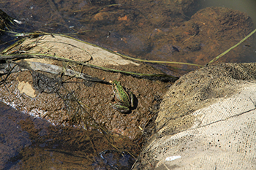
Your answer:
[[[161,4],[165,3],[165,4]],[[75,38],[82,39],[86,42],[106,47],[110,50],[118,51],[135,58],[146,58],[147,60],[159,61],[179,61],[187,63],[197,63],[205,65],[211,58],[195,60],[195,57],[188,58],[191,55],[187,49],[182,55],[176,53],[179,47],[170,41],[172,36],[165,34],[175,34],[171,30],[182,22],[189,20],[199,9],[206,7],[229,7],[246,12],[256,21],[255,7],[256,2],[253,0],[197,0],[194,9],[184,7],[183,15],[179,15],[177,10],[181,7],[168,6],[165,1],[3,1],[0,8],[7,12],[8,15],[23,22],[15,31],[46,31],[51,33],[72,34]],[[199,7],[199,8],[198,8]],[[173,15],[168,12],[172,11]],[[176,15],[175,15],[176,13]],[[43,16],[43,17],[42,17]],[[176,18],[177,17],[177,18]],[[144,28],[143,26],[146,26]],[[79,33],[79,34],[77,34]],[[238,42],[244,36],[235,39]],[[170,40],[169,40],[170,39]],[[176,38],[174,38],[176,39]],[[255,41],[255,40],[254,40]],[[246,42],[245,42],[246,43]],[[244,44],[245,44],[244,43]],[[243,45],[244,45],[243,44]],[[249,42],[249,48],[246,48],[246,57],[240,57],[236,61],[223,60],[225,62],[253,62],[255,59],[256,43]],[[177,48],[178,47],[178,48]],[[226,45],[219,51],[224,52],[231,45]],[[207,46],[202,45],[202,49]],[[181,49],[180,49],[181,50]],[[206,52],[201,52],[206,53]],[[218,53],[218,54],[219,54]],[[241,52],[243,55],[244,52]],[[200,55],[197,53],[196,55]],[[203,54],[205,56],[211,54]],[[217,56],[217,54],[214,54]],[[185,59],[187,58],[187,59]],[[205,57],[206,58],[206,57]],[[222,62],[223,62],[222,61]],[[161,67],[160,67],[161,68]],[[187,66],[181,66],[186,69]],[[196,68],[193,68],[196,69]]]

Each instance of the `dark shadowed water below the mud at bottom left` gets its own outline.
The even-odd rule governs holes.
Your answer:
[[[108,145],[99,131],[87,136],[0,102],[0,169],[130,169],[135,158]]]

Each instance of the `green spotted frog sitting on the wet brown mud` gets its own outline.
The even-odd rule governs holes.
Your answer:
[[[116,100],[116,104],[110,104],[112,107],[119,112],[127,113],[130,108],[134,106],[133,104],[133,94],[127,88],[124,88],[121,85],[121,82],[114,80],[112,82],[112,87],[114,91],[114,97]]]

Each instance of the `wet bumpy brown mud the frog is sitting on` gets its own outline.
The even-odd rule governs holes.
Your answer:
[[[140,71],[146,71],[147,67]],[[117,66],[114,68],[121,69]],[[153,116],[151,109],[159,104],[157,101],[167,90],[168,84],[117,73],[109,74],[91,68],[83,68],[83,72],[100,79],[121,81],[135,96],[135,107],[132,108],[132,112],[121,114],[111,107],[110,104],[114,104],[115,101],[110,84],[29,71],[11,74],[7,78],[1,85],[1,100],[7,103],[15,102],[16,108],[24,112],[34,112],[35,116],[43,117],[55,124],[96,123],[95,125],[102,125],[132,140],[139,139],[143,134],[139,127],[144,128],[148,119]],[[20,93],[17,89],[20,82],[28,82],[35,90],[36,97],[31,98]],[[14,93],[10,94],[10,91]]]

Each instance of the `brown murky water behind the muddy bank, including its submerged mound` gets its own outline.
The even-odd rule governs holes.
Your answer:
[[[205,65],[252,31],[252,20],[255,20],[255,13],[252,12],[254,5],[255,3],[249,0],[236,0],[233,4],[230,4],[230,1],[203,0],[12,0],[2,2],[0,7],[8,15],[23,22],[19,28],[25,32],[39,30],[67,33],[135,58]],[[199,12],[200,9],[211,6],[241,9],[247,15],[235,12],[233,16],[228,16],[228,10],[213,12],[207,9]],[[208,18],[208,15],[213,17]],[[248,15],[253,17],[252,20],[246,19]],[[205,17],[203,21],[202,16]],[[233,22],[227,24],[223,21],[219,25],[219,20],[225,20],[227,17]],[[208,22],[209,20],[216,20],[216,23]],[[217,31],[214,31],[215,29]],[[240,49],[233,50],[234,53],[227,54],[219,61],[255,61],[254,44],[247,41]],[[173,71],[173,65],[165,66]],[[186,65],[176,67],[188,72],[197,69]],[[185,73],[175,69],[173,72],[166,69],[165,72],[178,76]]]

